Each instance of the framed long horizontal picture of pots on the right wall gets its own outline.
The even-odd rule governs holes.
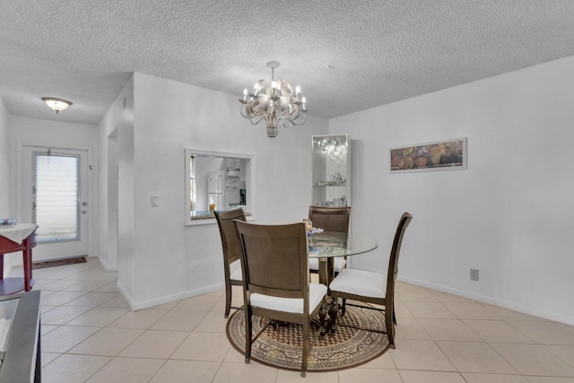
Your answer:
[[[466,137],[389,149],[389,172],[465,170]]]

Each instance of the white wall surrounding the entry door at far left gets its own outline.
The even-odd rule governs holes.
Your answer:
[[[98,126],[75,124],[69,122],[53,121],[39,118],[24,118],[10,116],[10,152],[11,152],[11,178],[10,178],[10,209],[12,215],[22,222],[22,193],[18,188],[22,186],[22,146],[44,146],[51,148],[86,149],[91,152],[92,158],[89,170],[88,184],[90,216],[90,231],[88,232],[88,255],[97,255],[99,252],[97,212],[98,191],[94,186],[98,178]],[[22,263],[22,262],[20,262]]]

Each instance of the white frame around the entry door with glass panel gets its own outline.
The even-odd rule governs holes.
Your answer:
[[[24,196],[23,194],[23,174],[24,174],[24,170],[23,170],[23,150],[24,147],[32,147],[34,149],[38,148],[38,150],[46,150],[48,148],[50,148],[53,151],[57,151],[57,150],[70,150],[70,151],[84,151],[87,152],[87,161],[88,161],[88,166],[87,166],[87,174],[85,174],[85,177],[87,178],[87,184],[88,184],[88,189],[86,190],[86,201],[88,203],[88,219],[87,219],[87,236],[88,236],[88,256],[92,256],[92,255],[96,255],[95,251],[94,251],[94,228],[95,228],[95,222],[96,221],[96,212],[98,212],[98,208],[96,205],[96,200],[97,198],[95,198],[95,190],[94,190],[94,166],[93,166],[93,148],[91,146],[84,146],[84,145],[74,145],[74,144],[70,144],[70,145],[63,145],[63,144],[49,144],[49,143],[39,143],[39,142],[35,142],[35,141],[27,141],[25,143],[22,143],[21,141],[16,141],[16,156],[15,156],[15,160],[16,160],[16,166],[15,166],[15,173],[13,176],[13,181],[15,183],[16,186],[16,193],[13,196],[13,201],[14,201],[14,206],[15,206],[15,212],[16,212],[16,217],[22,217],[22,210],[23,210],[23,205],[24,203],[26,203],[27,198]],[[84,175],[82,175],[84,176]],[[26,223],[26,222],[22,222],[22,220],[19,220],[19,222],[21,223]],[[32,252],[33,254],[33,252]],[[17,265],[17,264],[16,264]]]

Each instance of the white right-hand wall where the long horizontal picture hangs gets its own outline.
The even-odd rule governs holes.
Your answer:
[[[329,120],[353,142],[353,230],[400,278],[574,325],[574,57]],[[388,148],[468,137],[468,169],[389,174]],[[480,270],[471,282],[470,268]]]

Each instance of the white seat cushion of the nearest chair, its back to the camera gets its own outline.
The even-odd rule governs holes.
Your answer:
[[[309,283],[309,312],[321,304],[326,295],[326,285],[321,283]],[[264,294],[251,294],[251,306],[262,309],[274,309],[277,311],[303,313],[303,300],[300,298],[277,298]]]

